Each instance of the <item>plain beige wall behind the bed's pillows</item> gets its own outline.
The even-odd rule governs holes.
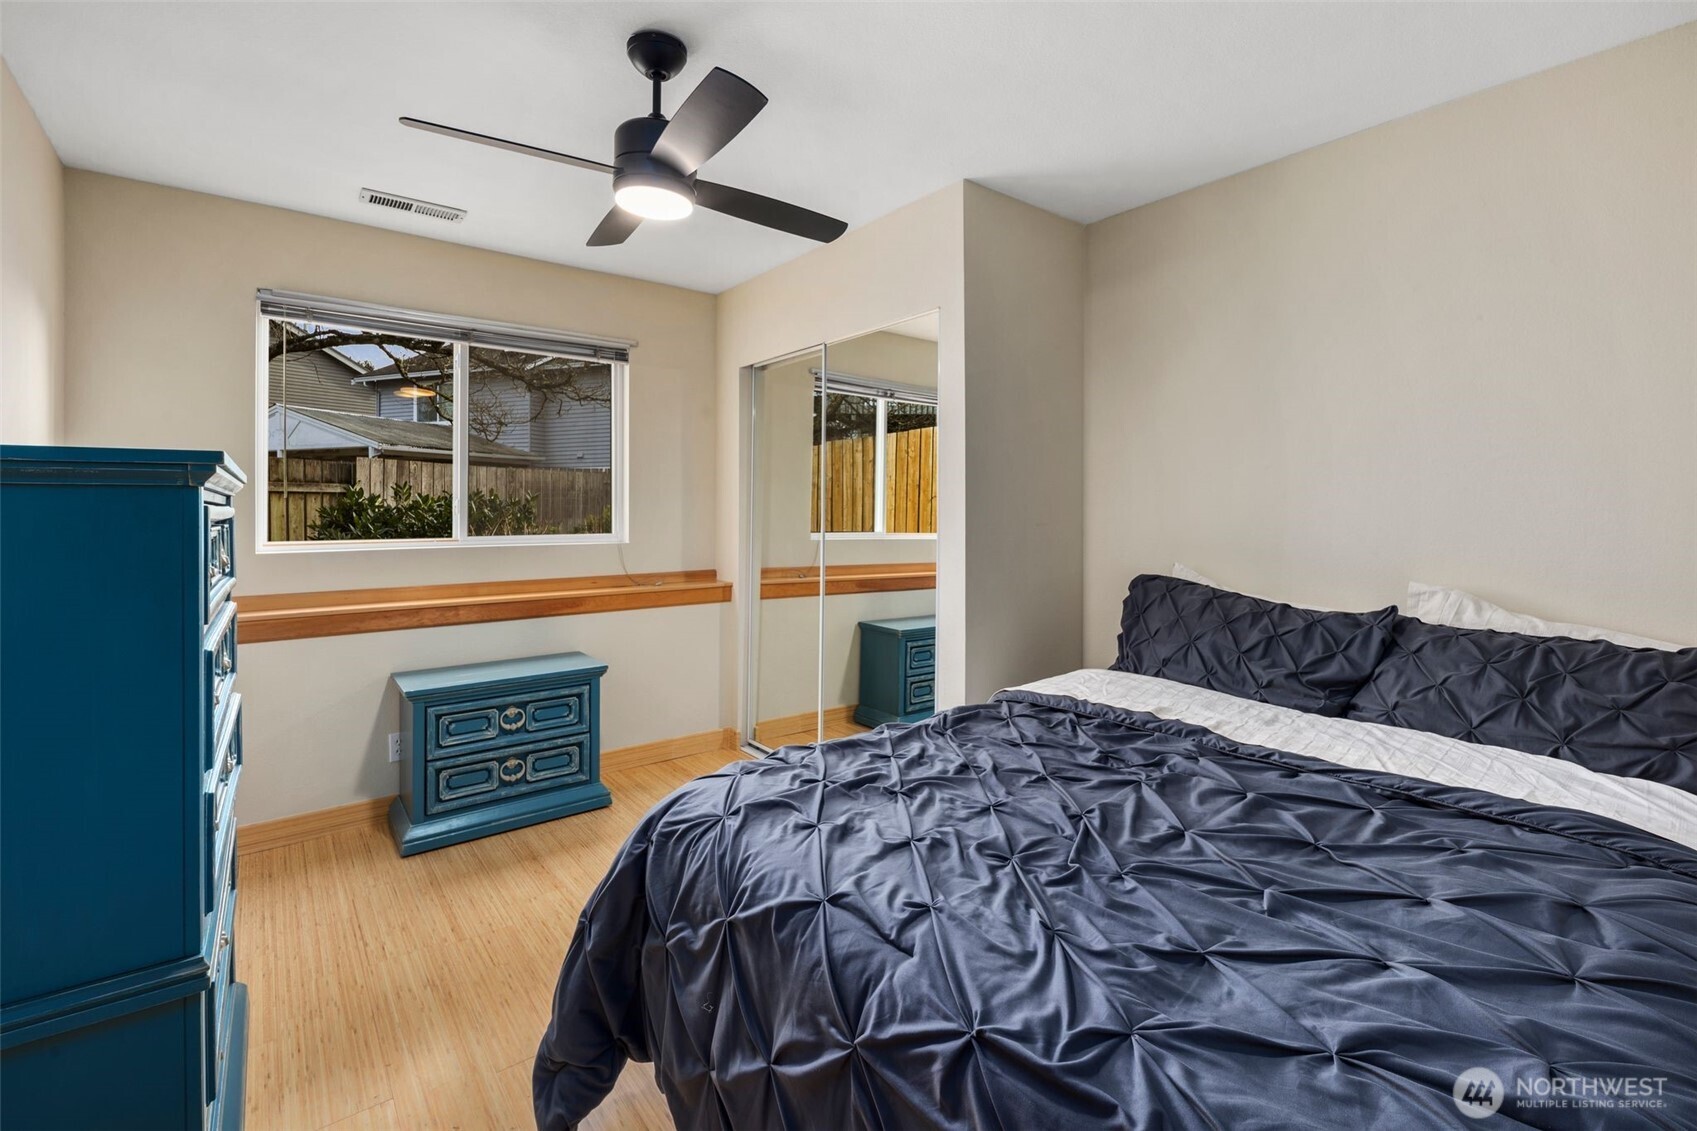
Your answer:
[[[1697,640],[1694,224],[1697,25],[1091,226],[1088,659],[1174,559]]]

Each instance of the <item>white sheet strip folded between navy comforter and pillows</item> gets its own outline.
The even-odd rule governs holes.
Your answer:
[[[1027,683],[1020,689],[1147,712],[1207,727],[1234,742],[1307,754],[1356,769],[1580,808],[1697,849],[1697,795],[1660,781],[1600,774],[1558,757],[1461,742],[1424,730],[1308,715],[1123,671],[1086,667]]]

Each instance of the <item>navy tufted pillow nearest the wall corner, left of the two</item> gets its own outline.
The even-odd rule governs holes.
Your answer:
[[[1142,574],[1120,616],[1115,671],[1342,715],[1390,644],[1397,608],[1325,613]]]

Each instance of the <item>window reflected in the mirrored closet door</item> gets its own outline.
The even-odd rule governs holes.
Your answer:
[[[813,533],[935,535],[935,389],[815,379]]]

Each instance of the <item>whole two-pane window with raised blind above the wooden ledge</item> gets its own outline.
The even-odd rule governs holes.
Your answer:
[[[260,292],[261,549],[623,538],[628,343]]]

